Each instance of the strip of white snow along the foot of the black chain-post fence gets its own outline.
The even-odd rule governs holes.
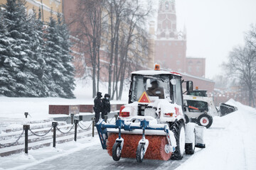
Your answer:
[[[78,140],[78,142],[73,141],[63,144],[57,144],[55,148],[50,146],[36,150],[28,150],[28,154],[21,153],[13,154],[9,157],[0,157],[0,170],[27,169],[28,167],[36,166],[50,160],[54,162],[54,160],[57,158],[68,157],[69,154],[73,154],[94,145],[100,145],[100,140],[98,136],[85,137]],[[55,162],[55,164],[59,163]],[[66,164],[68,166],[68,162],[66,162]]]

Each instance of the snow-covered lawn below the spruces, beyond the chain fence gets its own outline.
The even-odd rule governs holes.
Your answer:
[[[49,115],[49,105],[84,105],[93,104],[92,87],[90,81],[77,80],[74,94],[76,98],[9,98],[0,96],[0,123],[9,119],[23,120],[24,113],[28,112],[32,119],[52,118],[56,115]],[[102,96],[107,93],[107,84],[100,84]],[[110,101],[110,103],[127,103],[128,92],[123,92],[122,101]],[[58,115],[57,115],[58,116]],[[29,116],[28,116],[29,117]]]

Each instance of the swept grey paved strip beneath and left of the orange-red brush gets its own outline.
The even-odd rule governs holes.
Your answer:
[[[159,161],[144,160],[142,164],[138,164],[136,159],[120,159],[114,162],[106,150],[102,150],[100,145],[94,145],[81,151],[69,154],[65,157],[46,161],[36,166],[26,168],[32,169],[176,169],[182,162],[185,162],[189,156],[182,161]]]

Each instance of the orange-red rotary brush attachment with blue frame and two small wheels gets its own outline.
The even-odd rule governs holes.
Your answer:
[[[139,123],[125,123],[119,119],[116,125],[104,121],[98,123],[97,131],[102,148],[107,149],[115,161],[121,156],[136,158],[137,162],[142,162],[144,156],[145,159],[170,159],[176,147],[174,133],[169,130],[168,125],[150,125],[149,122],[144,119],[139,120]],[[107,128],[118,130],[107,132]]]

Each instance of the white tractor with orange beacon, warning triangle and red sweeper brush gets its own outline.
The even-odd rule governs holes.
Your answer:
[[[181,74],[159,69],[132,72],[129,103],[122,106],[115,124],[97,124],[103,149],[114,161],[122,158],[182,159],[204,148],[204,127],[185,123]],[[193,82],[186,82],[187,90]]]

